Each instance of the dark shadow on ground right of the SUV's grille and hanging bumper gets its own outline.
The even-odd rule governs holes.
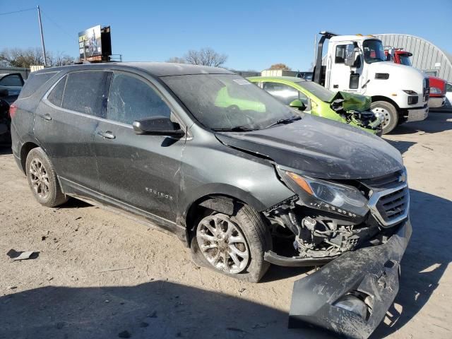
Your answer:
[[[401,263],[400,290],[394,304],[371,338],[383,338],[408,323],[427,304],[452,261],[448,234],[452,201],[410,190],[412,237]],[[434,321],[446,323],[435,315]],[[433,319],[433,318],[432,318]]]

